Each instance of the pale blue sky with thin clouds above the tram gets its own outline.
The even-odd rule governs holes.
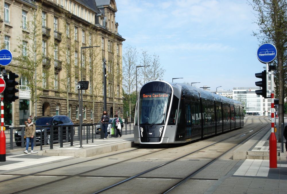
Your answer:
[[[256,87],[261,45],[256,13],[246,0],[116,0],[118,32],[137,52],[159,56],[163,80],[196,87]],[[139,62],[138,62],[139,63]],[[138,64],[139,65],[139,64]]]

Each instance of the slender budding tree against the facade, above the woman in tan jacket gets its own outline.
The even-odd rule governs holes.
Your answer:
[[[26,80],[26,85],[31,91],[30,99],[32,105],[36,104],[44,89],[41,85],[43,77],[42,75],[37,75],[37,72],[41,72],[42,63],[46,62],[47,59],[42,52],[42,23],[40,15],[40,9],[32,9],[31,20],[27,21],[26,28],[23,29],[26,32],[24,33],[24,38],[18,38],[18,48],[14,50],[14,52],[18,53],[18,56],[14,58],[18,60],[17,68],[21,70],[21,76],[23,80]],[[43,68],[42,72],[48,76],[48,68]],[[33,115],[34,109],[32,109],[31,113]]]

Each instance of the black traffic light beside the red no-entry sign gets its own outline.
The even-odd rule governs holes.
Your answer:
[[[5,90],[4,90],[4,101],[5,102],[15,102],[15,100],[19,99],[18,96],[15,96],[19,90],[15,88],[16,85],[19,85],[18,81],[15,81],[19,76],[13,72],[9,72],[9,79],[4,77],[5,80]]]

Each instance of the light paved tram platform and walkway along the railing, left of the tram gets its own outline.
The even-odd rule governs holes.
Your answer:
[[[98,154],[117,151],[134,146],[133,134],[123,135],[120,138],[109,137],[107,140],[94,139],[94,142],[83,141],[80,148],[79,142],[74,146],[65,145],[63,148],[55,146],[53,150],[49,146],[43,147],[34,146],[34,153],[24,154],[25,148],[19,148],[18,151],[6,153],[6,161],[0,162],[0,174],[12,171],[15,169],[23,169],[28,166],[41,165],[44,163],[52,163],[60,160],[67,160],[75,157],[89,157]]]

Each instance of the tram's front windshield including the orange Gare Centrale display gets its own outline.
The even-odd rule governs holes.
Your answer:
[[[139,124],[165,124],[170,105],[170,93],[150,92],[139,99]]]

